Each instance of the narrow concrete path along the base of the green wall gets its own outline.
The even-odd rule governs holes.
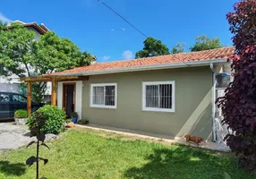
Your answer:
[[[213,149],[218,151],[230,151],[229,147],[226,146],[225,143],[218,143],[218,142],[206,142],[201,143],[199,146],[193,144],[192,142],[186,143],[185,139],[174,139],[173,137],[167,136],[167,135],[158,135],[154,133],[149,132],[137,132],[127,129],[120,129],[115,127],[107,127],[102,125],[96,125],[96,124],[89,124],[89,125],[80,125],[75,124],[77,127],[81,128],[87,128],[91,130],[96,131],[104,131],[104,132],[115,132],[117,134],[121,134],[124,136],[130,136],[132,138],[136,139],[145,139],[145,140],[151,140],[151,141],[159,141],[161,143],[171,144],[171,143],[178,143],[183,145],[189,145],[192,147],[199,147],[203,149]]]

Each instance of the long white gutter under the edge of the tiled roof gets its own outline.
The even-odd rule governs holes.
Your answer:
[[[52,74],[52,75],[55,75],[55,76],[88,76],[88,75],[107,74],[107,73],[116,73],[116,72],[138,72],[138,71],[161,70],[161,69],[169,69],[169,68],[207,66],[209,64],[226,63],[226,59],[227,58],[221,58],[221,59],[216,59],[216,60],[201,60],[201,61],[192,61],[192,62],[182,62],[182,63],[140,65],[140,66],[107,69],[107,70],[100,70],[100,71],[66,72],[66,73],[59,73],[59,74]]]

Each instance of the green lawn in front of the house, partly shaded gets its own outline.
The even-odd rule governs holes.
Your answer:
[[[48,158],[40,176],[48,179],[150,178],[150,179],[252,179],[235,167],[235,159],[225,153],[157,142],[130,141],[112,133],[70,130],[59,141],[41,149]],[[35,147],[0,154],[0,178],[34,179],[35,166],[24,165],[35,155]]]

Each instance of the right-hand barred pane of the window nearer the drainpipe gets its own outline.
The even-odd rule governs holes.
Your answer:
[[[172,85],[171,84],[160,84],[159,85],[159,98],[160,108],[170,109],[172,108]]]

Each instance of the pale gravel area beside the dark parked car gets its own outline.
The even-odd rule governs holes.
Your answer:
[[[55,134],[47,134],[46,141],[59,138]],[[30,131],[26,125],[14,123],[0,123],[0,151],[6,149],[18,149],[30,143],[35,138],[30,138]]]

